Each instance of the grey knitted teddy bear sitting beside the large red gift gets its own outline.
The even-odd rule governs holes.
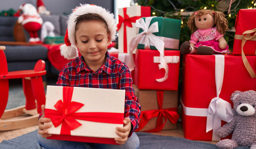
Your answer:
[[[234,119],[217,130],[223,138],[231,132],[232,138],[220,140],[219,148],[250,147],[256,148],[256,91],[235,91],[230,97],[234,104]]]

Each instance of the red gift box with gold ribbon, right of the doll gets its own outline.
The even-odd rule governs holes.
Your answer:
[[[256,9],[240,9],[235,20],[235,39],[233,54],[241,55],[243,33],[252,30],[251,36],[256,32]],[[255,34],[256,35],[256,34]],[[244,45],[245,55],[256,55],[256,36],[247,40]]]

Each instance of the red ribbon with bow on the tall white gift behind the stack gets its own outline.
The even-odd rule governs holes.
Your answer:
[[[135,17],[129,17],[128,14],[126,14],[126,7],[123,8],[123,16],[118,15],[118,24],[117,24],[117,30],[121,28],[121,25],[123,24],[123,52],[127,53],[127,33],[126,33],[126,26],[133,27],[131,24],[132,22],[136,22],[137,19],[140,19],[140,16]]]

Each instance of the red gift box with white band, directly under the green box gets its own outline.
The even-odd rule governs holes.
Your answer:
[[[165,70],[159,70],[158,50],[136,50],[135,54],[135,84],[139,89],[178,90],[179,51],[164,50],[164,59],[168,64],[168,78],[163,78]]]

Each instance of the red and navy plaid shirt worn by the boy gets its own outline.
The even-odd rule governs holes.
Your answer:
[[[131,129],[138,128],[141,106],[133,90],[133,80],[128,67],[106,53],[107,60],[96,72],[80,56],[70,61],[59,73],[57,85],[85,88],[125,89],[125,117],[131,119]]]

